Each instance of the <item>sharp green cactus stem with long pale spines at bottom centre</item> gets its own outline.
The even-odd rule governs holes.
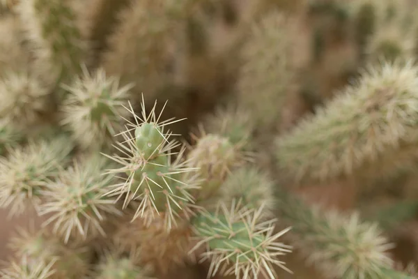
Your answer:
[[[208,277],[221,273],[237,279],[274,279],[274,266],[289,271],[278,259],[291,252],[291,246],[279,242],[289,229],[274,234],[275,220],[261,220],[262,210],[240,208],[235,202],[229,208],[221,203],[215,212],[203,211],[193,220],[200,241],[191,252],[206,246],[201,257],[210,260]]]

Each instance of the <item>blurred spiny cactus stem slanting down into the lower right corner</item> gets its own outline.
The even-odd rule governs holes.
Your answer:
[[[284,189],[277,190],[279,223],[292,226],[289,241],[325,278],[397,278],[390,276],[396,274],[389,255],[393,244],[376,224],[362,222],[357,213],[323,211]]]

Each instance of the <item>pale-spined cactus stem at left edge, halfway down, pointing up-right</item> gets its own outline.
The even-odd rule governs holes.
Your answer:
[[[40,191],[59,173],[70,151],[72,144],[66,137],[9,149],[8,156],[0,158],[0,207],[14,216],[23,213],[28,204],[37,206]]]

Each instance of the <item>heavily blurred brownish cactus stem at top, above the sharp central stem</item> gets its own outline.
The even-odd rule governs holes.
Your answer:
[[[121,11],[120,25],[109,37],[109,52],[104,53],[102,67],[119,75],[123,84],[135,82],[139,92],[155,96],[167,82],[173,62],[173,47],[178,41],[178,22],[171,15],[170,1],[131,1]],[[178,8],[178,7],[177,7]]]

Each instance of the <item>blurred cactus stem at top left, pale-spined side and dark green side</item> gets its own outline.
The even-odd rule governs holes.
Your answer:
[[[86,43],[69,2],[26,0],[16,7],[37,57],[36,70],[52,84],[79,73],[84,62]]]

